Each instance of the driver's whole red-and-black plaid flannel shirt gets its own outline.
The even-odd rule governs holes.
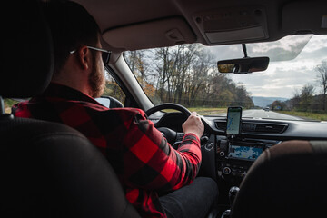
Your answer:
[[[177,150],[134,108],[108,109],[60,84],[13,107],[15,116],[67,124],[84,134],[114,167],[127,200],[143,217],[166,217],[157,192],[193,182],[201,164],[199,138],[186,134]]]

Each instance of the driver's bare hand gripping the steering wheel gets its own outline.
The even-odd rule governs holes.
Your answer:
[[[182,127],[184,134],[195,134],[199,137],[199,139],[204,132],[203,122],[196,112],[193,112],[188,117],[188,119],[183,123]]]

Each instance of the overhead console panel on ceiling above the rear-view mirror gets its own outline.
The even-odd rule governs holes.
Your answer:
[[[262,6],[222,8],[193,15],[208,45],[237,44],[267,39],[266,13]]]

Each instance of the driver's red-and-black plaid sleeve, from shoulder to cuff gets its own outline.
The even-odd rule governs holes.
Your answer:
[[[201,165],[200,140],[186,134],[177,150],[167,143],[143,111],[124,137],[124,183],[147,190],[176,190],[193,182]]]

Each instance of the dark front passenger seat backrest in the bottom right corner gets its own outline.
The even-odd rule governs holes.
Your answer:
[[[288,141],[253,163],[232,217],[325,217],[327,142]]]

